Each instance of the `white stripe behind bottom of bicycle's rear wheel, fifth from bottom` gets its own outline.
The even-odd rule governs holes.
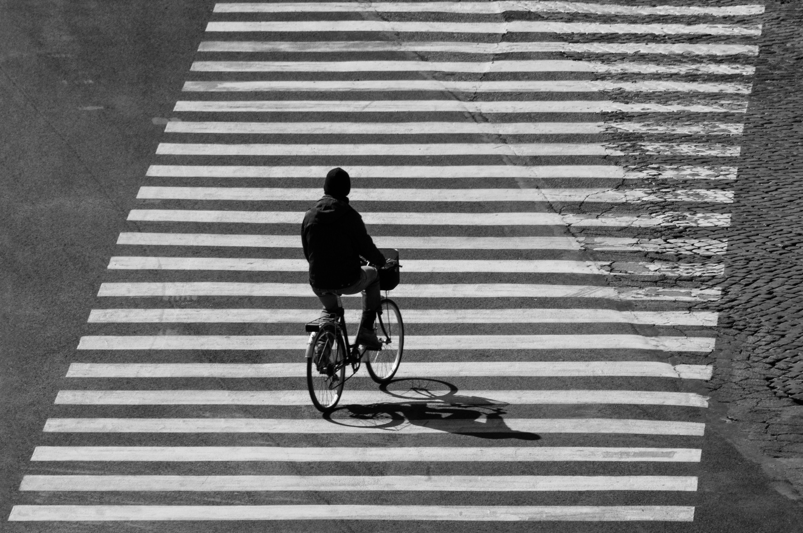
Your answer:
[[[680,405],[707,407],[695,393],[629,390],[349,390],[346,403],[434,405]],[[60,390],[56,405],[309,405],[305,390]]]

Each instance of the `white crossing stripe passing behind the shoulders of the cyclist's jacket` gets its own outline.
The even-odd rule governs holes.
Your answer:
[[[556,213],[361,213],[365,224],[397,226],[683,226],[727,227],[729,214],[668,213],[645,217]],[[303,212],[131,210],[128,220],[150,222],[230,222],[242,224],[298,224]],[[676,239],[683,242],[683,239]],[[636,239],[625,239],[637,242]],[[614,246],[621,246],[618,242]]]

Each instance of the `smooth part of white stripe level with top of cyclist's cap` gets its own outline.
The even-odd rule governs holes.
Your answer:
[[[171,122],[169,124],[191,124]],[[168,124],[168,125],[169,125]],[[227,123],[215,123],[227,124]],[[236,124],[236,123],[229,123]],[[267,125],[296,123],[259,123]],[[314,123],[313,123],[314,124]],[[338,124],[338,123],[325,123]],[[344,123],[349,124],[349,123]],[[352,123],[365,124],[365,123]],[[410,123],[402,123],[410,124]],[[430,123],[417,123],[430,124]],[[439,124],[439,123],[433,123]],[[452,124],[452,123],[442,123]],[[541,127],[543,122],[529,125]],[[469,123],[471,127],[478,125]],[[479,124],[482,125],[482,124]],[[497,124],[494,124],[497,125]],[[389,131],[394,124],[377,123],[377,127],[387,126]],[[283,127],[283,126],[281,126]],[[405,126],[406,127],[406,126]],[[546,126],[547,128],[549,126]],[[435,128],[435,127],[434,127]],[[402,131],[400,131],[402,132]],[[685,167],[679,167],[684,169]],[[715,167],[716,168],[716,167]],[[732,169],[733,167],[721,167]],[[326,166],[225,166],[225,165],[151,165],[148,176],[159,177],[322,177],[326,176],[330,167]],[[687,167],[695,169],[695,167]],[[672,171],[659,167],[654,172]],[[679,170],[678,170],[679,171]],[[736,169],[733,170],[735,172]],[[646,173],[630,173],[617,165],[385,165],[385,166],[349,166],[349,176],[359,177],[595,177],[621,180],[627,177],[644,177]],[[652,174],[650,174],[652,175]]]

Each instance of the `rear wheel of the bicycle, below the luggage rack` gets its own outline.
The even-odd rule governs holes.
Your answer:
[[[321,413],[335,409],[343,394],[346,348],[336,328],[320,328],[307,346],[307,389]]]

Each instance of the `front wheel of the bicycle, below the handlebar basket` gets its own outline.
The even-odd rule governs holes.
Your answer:
[[[381,350],[365,351],[365,368],[371,379],[387,383],[396,375],[404,352],[404,323],[402,312],[392,299],[381,299],[381,314],[377,314],[377,337],[384,345]]]

